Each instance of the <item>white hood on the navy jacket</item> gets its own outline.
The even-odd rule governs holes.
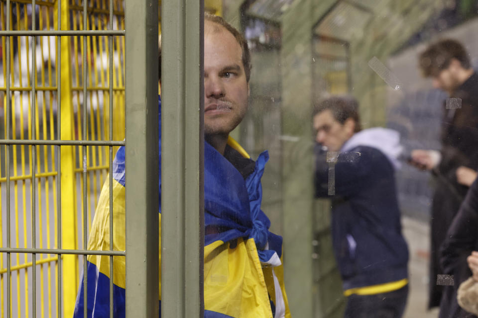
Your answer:
[[[340,151],[351,151],[358,146],[375,148],[390,160],[395,169],[401,167],[398,157],[403,147],[400,145],[400,134],[395,130],[375,127],[359,131],[342,146]]]

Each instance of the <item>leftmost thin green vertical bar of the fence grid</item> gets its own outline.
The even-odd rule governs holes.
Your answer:
[[[6,0],[6,26],[5,30],[10,30],[10,0]],[[10,139],[10,37],[6,36],[6,131],[5,139]],[[5,164],[6,164],[6,247],[11,247],[10,242],[10,145],[5,145]],[[11,302],[11,264],[10,253],[6,253],[6,317],[10,318]]]

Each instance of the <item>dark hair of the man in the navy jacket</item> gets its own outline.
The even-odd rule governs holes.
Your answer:
[[[355,121],[354,132],[358,133],[361,130],[359,102],[354,97],[344,95],[322,99],[314,104],[312,117],[325,110],[330,110],[334,119],[341,125],[343,125],[347,119],[352,118]]]

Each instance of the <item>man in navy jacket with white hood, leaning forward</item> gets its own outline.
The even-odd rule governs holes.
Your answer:
[[[320,145],[316,196],[332,195],[333,247],[348,297],[345,317],[401,317],[408,248],[394,176],[399,135],[384,128],[361,131],[358,103],[346,96],[316,104],[313,125]]]

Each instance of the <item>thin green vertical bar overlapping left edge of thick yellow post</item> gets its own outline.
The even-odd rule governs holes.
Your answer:
[[[57,4],[57,29],[61,30],[61,0],[56,1]],[[57,37],[56,42],[56,138],[61,140],[61,36]],[[57,182],[57,194],[56,194],[56,202],[57,202],[57,248],[61,249],[61,146],[57,147],[57,174],[56,174],[56,182]],[[57,268],[57,309],[56,309],[56,317],[61,317],[61,254],[58,254],[58,268]]]

